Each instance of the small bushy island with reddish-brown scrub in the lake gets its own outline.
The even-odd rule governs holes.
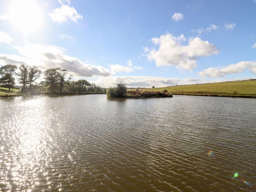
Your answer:
[[[124,82],[116,83],[115,87],[109,87],[107,89],[107,97],[120,97],[120,98],[159,98],[159,97],[173,97],[167,89],[162,91],[139,91],[127,90],[127,86]]]

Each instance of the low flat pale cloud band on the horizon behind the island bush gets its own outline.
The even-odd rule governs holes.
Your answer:
[[[178,79],[155,76],[109,76],[105,78],[98,78],[94,83],[102,87],[111,87],[118,81],[125,82],[128,87],[165,87],[178,84],[197,84],[207,82],[202,79]]]

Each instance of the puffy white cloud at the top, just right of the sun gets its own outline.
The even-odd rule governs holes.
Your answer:
[[[54,22],[61,23],[69,19],[77,23],[78,19],[83,19],[83,16],[78,14],[74,7],[69,7],[69,0],[65,0],[68,5],[65,5],[63,2],[64,1],[59,0],[61,8],[56,8],[52,11],[52,13],[49,14]]]

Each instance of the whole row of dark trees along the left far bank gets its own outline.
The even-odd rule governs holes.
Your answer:
[[[18,71],[17,71],[18,69]],[[72,80],[72,75],[68,75],[67,69],[50,68],[45,71],[44,81],[35,83],[41,75],[41,70],[37,66],[27,67],[7,64],[0,67],[0,86],[7,87],[9,91],[15,88],[15,78],[18,77],[19,84],[22,84],[23,92],[65,92],[65,93],[105,93],[106,89],[89,83],[87,80]]]

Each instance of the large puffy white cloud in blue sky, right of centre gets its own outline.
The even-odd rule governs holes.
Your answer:
[[[197,66],[196,63],[200,57],[219,53],[214,44],[203,41],[199,37],[189,39],[188,45],[182,44],[185,41],[183,34],[175,37],[167,33],[159,38],[153,38],[153,44],[159,48],[151,49],[146,56],[148,60],[154,60],[158,67],[176,66],[178,69],[192,70]]]

